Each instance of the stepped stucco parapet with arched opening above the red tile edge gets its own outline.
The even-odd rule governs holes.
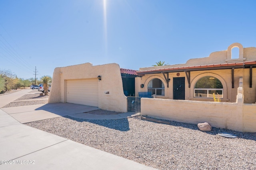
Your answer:
[[[144,70],[153,70],[153,69],[161,69],[161,68],[176,68],[176,67],[185,67],[185,66],[198,66],[198,65],[207,65],[207,64],[224,64],[224,63],[239,63],[244,61],[255,61],[256,56],[256,47],[248,47],[243,48],[240,50],[240,59],[229,59],[228,57],[231,57],[230,50],[232,50],[232,47],[242,47],[240,43],[233,43],[228,47],[227,50],[224,51],[216,51],[211,53],[208,57],[203,58],[194,58],[189,59],[184,64],[173,64],[173,65],[166,65],[166,66],[150,66],[150,67],[143,67],[140,68],[140,71]],[[241,52],[242,51],[242,52]]]

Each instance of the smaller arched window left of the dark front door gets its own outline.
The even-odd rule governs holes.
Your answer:
[[[154,78],[148,83],[148,92],[151,94],[164,96],[164,83],[158,79]]]

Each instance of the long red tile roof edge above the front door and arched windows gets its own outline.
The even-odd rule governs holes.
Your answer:
[[[151,74],[161,72],[178,72],[178,71],[190,71],[190,70],[211,70],[211,69],[225,69],[225,68],[243,68],[244,65],[253,65],[256,61],[246,61],[244,63],[223,63],[223,64],[208,64],[199,66],[182,66],[182,67],[170,67],[170,68],[157,68],[152,70],[137,71],[137,74]]]

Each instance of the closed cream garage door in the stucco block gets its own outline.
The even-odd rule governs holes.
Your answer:
[[[98,79],[67,80],[67,102],[98,107]]]

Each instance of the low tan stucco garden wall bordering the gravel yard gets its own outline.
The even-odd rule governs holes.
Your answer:
[[[184,123],[208,122],[213,127],[256,132],[256,104],[141,98],[141,115]]]

